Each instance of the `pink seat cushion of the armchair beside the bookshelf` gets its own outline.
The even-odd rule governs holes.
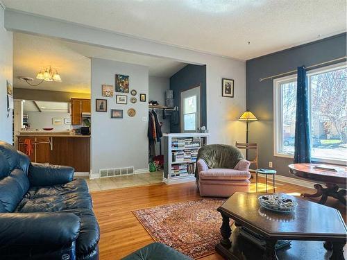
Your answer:
[[[251,173],[230,168],[210,168],[208,171],[201,171],[198,177],[202,180],[247,180]]]

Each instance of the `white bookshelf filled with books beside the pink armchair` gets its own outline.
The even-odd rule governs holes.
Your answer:
[[[164,134],[164,175],[166,184],[194,181],[198,149],[208,143],[209,134]]]

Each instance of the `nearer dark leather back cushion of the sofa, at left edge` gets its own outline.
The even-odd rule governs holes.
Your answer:
[[[28,177],[19,169],[0,180],[0,212],[13,212],[28,189]]]

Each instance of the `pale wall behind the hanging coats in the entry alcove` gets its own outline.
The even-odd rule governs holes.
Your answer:
[[[160,105],[165,105],[165,90],[170,89],[170,79],[161,77],[149,77],[149,101],[158,101]],[[162,110],[155,110],[158,114],[158,119],[162,122],[162,133],[170,132],[170,117],[162,119]],[[162,144],[163,147],[164,144]],[[155,144],[155,153],[159,155],[159,143]]]

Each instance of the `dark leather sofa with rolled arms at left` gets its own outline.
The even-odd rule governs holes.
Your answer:
[[[73,177],[0,141],[0,259],[99,259],[92,199]]]

